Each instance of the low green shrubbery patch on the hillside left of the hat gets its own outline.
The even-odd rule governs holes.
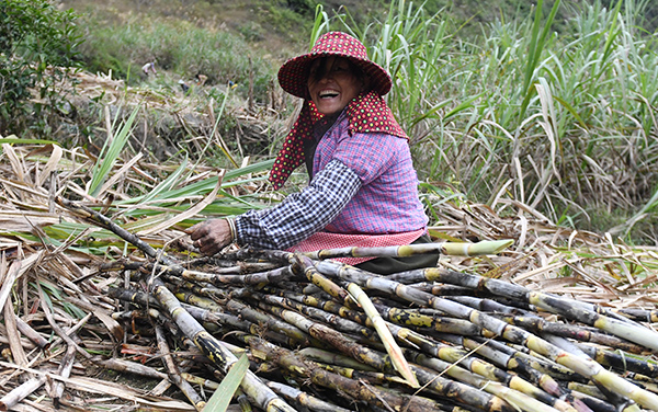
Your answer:
[[[87,16],[90,34],[81,47],[89,70],[140,81],[141,66],[157,68],[185,80],[207,76],[208,84],[232,81],[246,93],[252,76],[254,94],[263,100],[272,78],[272,65],[256,54],[237,34],[195,26],[186,21],[131,18],[117,25],[103,25]]]

